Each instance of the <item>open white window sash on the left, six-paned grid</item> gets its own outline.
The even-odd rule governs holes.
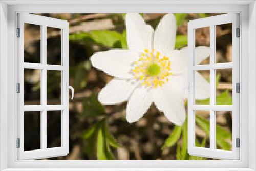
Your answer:
[[[40,26],[40,63],[24,62],[24,24]],[[61,64],[47,62],[47,27],[61,30]],[[17,159],[41,159],[65,156],[69,153],[69,23],[66,20],[27,13],[17,14]],[[40,105],[24,105],[24,69],[39,69]],[[47,105],[47,71],[61,72],[61,104]],[[24,151],[24,115],[27,111],[40,112],[40,149]],[[47,148],[47,111],[61,111],[61,146]]]

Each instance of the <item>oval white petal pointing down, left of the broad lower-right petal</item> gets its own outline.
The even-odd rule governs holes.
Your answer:
[[[145,87],[138,87],[130,97],[126,108],[126,120],[133,123],[139,120],[152,104],[151,91]]]

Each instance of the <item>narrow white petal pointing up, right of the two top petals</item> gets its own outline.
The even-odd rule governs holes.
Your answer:
[[[164,55],[174,49],[176,38],[176,19],[173,14],[162,17],[154,33],[154,49]]]

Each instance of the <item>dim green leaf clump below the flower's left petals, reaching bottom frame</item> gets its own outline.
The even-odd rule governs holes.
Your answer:
[[[114,156],[110,146],[118,148],[120,145],[117,144],[109,131],[105,110],[99,103],[95,93],[92,93],[90,97],[83,101],[83,115],[90,117],[104,116],[103,119],[96,122],[82,134],[82,139],[86,140],[84,151],[90,158],[113,160]]]

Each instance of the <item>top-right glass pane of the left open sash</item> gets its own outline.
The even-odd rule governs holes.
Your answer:
[[[61,29],[47,27],[47,64],[61,65]]]

